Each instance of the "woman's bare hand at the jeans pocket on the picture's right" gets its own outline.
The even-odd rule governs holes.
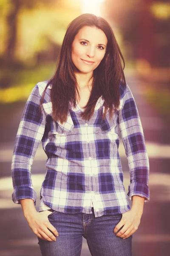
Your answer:
[[[139,212],[133,211],[132,209],[122,213],[122,219],[116,225],[113,232],[116,233],[123,226],[116,236],[122,237],[123,239],[128,238],[138,229],[141,217],[142,214],[139,214]]]

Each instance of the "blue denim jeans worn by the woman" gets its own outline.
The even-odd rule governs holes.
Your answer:
[[[48,220],[57,229],[57,241],[40,239],[42,256],[80,256],[82,236],[87,240],[92,256],[132,256],[132,237],[123,239],[113,233],[122,214],[102,215],[68,214],[52,210]]]

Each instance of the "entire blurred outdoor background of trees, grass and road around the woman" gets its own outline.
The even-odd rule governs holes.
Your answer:
[[[133,256],[170,254],[170,2],[167,0],[0,0],[0,255],[40,256],[38,240],[14,204],[11,158],[31,89],[54,74],[68,24],[82,13],[111,24],[141,117],[150,160],[150,202],[133,235]],[[122,142],[124,185],[130,183]],[[32,166],[39,208],[45,176],[41,145]],[[130,202],[131,204],[131,202]],[[82,256],[90,256],[83,239]]]

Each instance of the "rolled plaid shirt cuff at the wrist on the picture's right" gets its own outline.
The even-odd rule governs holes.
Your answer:
[[[132,201],[133,195],[139,195],[144,198],[144,203],[150,201],[150,190],[147,184],[140,182],[132,182],[128,186],[128,193],[130,200]]]

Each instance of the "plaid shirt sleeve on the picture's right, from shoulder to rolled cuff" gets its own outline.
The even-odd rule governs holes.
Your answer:
[[[150,200],[149,159],[139,112],[133,94],[126,84],[120,86],[119,128],[130,169],[130,200],[133,195],[144,197],[144,203]]]

